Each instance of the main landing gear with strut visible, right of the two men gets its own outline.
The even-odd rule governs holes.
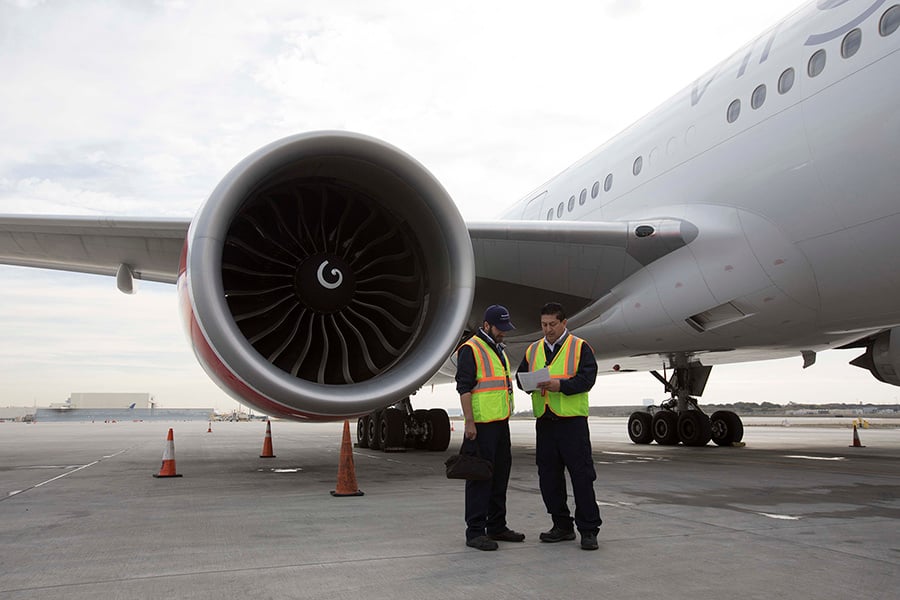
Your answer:
[[[676,363],[674,359],[672,362]],[[680,366],[676,363],[668,381],[658,372],[651,371],[672,396],[659,407],[649,407],[628,417],[631,441],[635,444],[655,441],[662,446],[674,446],[679,442],[685,446],[705,446],[710,440],[719,446],[732,446],[740,442],[744,437],[744,424],[737,414],[717,410],[707,416],[693,398],[693,395],[703,394],[712,367],[699,362],[687,363],[686,359],[680,363]]]

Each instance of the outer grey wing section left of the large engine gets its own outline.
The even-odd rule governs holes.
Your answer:
[[[189,226],[189,219],[0,215],[0,263],[111,276],[127,269],[135,279],[175,283]]]

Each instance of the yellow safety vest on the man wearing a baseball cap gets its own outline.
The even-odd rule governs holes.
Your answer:
[[[509,382],[509,359],[503,352],[503,361],[497,353],[477,335],[469,338],[464,346],[475,356],[475,387],[472,388],[472,416],[476,423],[490,423],[508,419],[513,411],[513,397]],[[502,350],[501,350],[502,352]]]

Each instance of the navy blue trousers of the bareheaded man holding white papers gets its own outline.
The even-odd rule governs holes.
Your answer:
[[[594,495],[594,459],[587,417],[540,418],[535,421],[538,481],[553,524],[566,531],[597,533],[603,521]],[[575,518],[569,512],[566,470],[575,496]],[[574,527],[573,527],[574,521]]]

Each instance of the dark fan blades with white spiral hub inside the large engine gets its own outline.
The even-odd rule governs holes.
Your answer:
[[[388,369],[427,304],[421,250],[403,221],[328,178],[275,183],[228,231],[222,282],[242,334],[279,369],[349,384]]]

